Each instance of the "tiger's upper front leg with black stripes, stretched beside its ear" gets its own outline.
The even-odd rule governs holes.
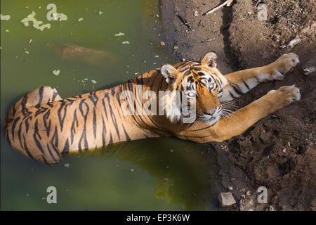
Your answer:
[[[220,101],[231,101],[245,94],[261,82],[280,80],[299,63],[296,53],[287,53],[275,62],[259,68],[240,70],[225,75],[228,84],[224,86]]]

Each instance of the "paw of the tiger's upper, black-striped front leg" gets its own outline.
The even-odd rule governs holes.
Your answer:
[[[299,62],[300,60],[296,53],[287,53],[280,56],[274,63],[268,65],[270,80],[283,79],[284,75],[292,70]]]

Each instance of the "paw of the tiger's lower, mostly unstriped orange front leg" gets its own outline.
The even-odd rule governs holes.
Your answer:
[[[295,85],[281,86],[277,90],[269,91],[265,95],[266,99],[272,104],[273,110],[279,110],[293,101],[299,101],[301,99],[300,89]]]

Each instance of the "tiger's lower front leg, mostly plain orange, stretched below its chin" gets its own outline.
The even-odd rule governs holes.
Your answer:
[[[300,91],[294,85],[282,86],[277,90],[269,91],[268,94],[246,105],[246,107],[237,110],[228,117],[221,118],[213,127],[206,129],[203,134],[197,134],[197,139],[192,141],[205,143],[228,140],[233,136],[242,134],[263,117],[284,108],[292,101],[300,100],[300,98]],[[204,136],[204,138],[200,139],[199,136]]]

